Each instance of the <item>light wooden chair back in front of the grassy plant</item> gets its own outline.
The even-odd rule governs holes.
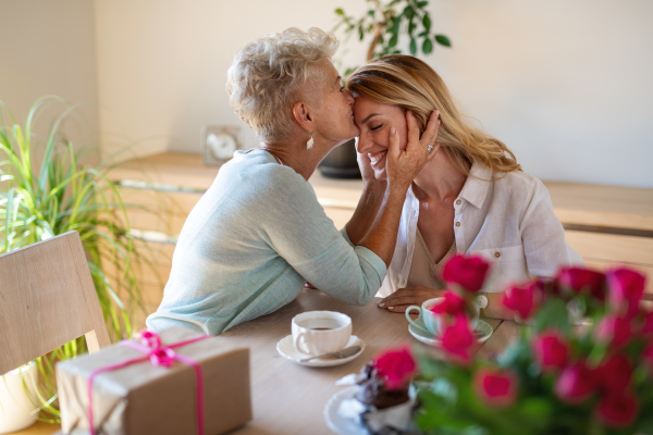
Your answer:
[[[0,375],[82,335],[111,344],[77,232],[0,256]]]

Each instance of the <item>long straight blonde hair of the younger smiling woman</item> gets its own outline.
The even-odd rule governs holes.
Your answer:
[[[431,112],[440,110],[438,142],[452,162],[469,175],[469,163],[478,162],[495,172],[521,171],[515,154],[501,141],[469,124],[456,109],[446,85],[423,61],[391,54],[356,70],[347,89],[381,104],[410,110],[427,125]]]

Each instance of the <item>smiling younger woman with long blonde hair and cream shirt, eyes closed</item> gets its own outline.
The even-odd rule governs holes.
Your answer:
[[[426,125],[438,110],[442,123],[434,158],[406,194],[380,308],[403,312],[440,296],[445,287],[440,268],[455,252],[492,261],[484,287],[488,299],[481,299],[488,303],[485,315],[498,318],[503,312],[496,293],[506,285],[530,276],[552,277],[562,265],[582,264],[565,241],[542,182],[522,172],[503,142],[466,121],[428,64],[409,55],[386,55],[358,69],[347,89],[356,98],[359,159],[371,165],[364,173],[366,181],[387,178],[389,132],[395,127],[399,146],[406,144],[407,111]],[[369,202],[367,208],[378,206]],[[359,207],[357,213],[369,213],[362,211]],[[365,219],[349,223],[347,232],[353,243],[359,240],[366,234]]]

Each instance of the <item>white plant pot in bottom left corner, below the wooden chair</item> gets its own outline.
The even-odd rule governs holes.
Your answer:
[[[21,431],[36,423],[37,412],[25,391],[33,394],[38,370],[33,361],[0,376],[0,434]]]

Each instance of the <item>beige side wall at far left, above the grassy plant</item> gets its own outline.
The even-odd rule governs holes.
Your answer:
[[[94,18],[87,0],[0,0],[0,100],[16,122],[39,97],[58,95],[84,104],[66,126],[69,136],[75,144],[97,144]],[[37,141],[54,113],[44,113]]]

